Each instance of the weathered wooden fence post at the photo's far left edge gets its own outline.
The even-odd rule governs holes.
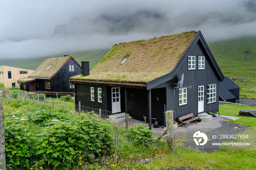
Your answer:
[[[4,139],[4,93],[0,91],[0,169],[6,170]]]

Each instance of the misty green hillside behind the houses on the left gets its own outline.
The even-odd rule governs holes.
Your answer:
[[[64,57],[65,54],[72,55],[78,63],[90,61],[90,69],[96,65],[110,49],[81,51],[76,53],[63,53],[40,58],[4,59],[0,60],[0,65],[19,67],[23,69],[35,70],[46,58]]]

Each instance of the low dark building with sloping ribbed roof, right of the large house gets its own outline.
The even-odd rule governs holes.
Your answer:
[[[219,82],[219,100],[237,103],[239,90],[240,87],[226,76],[223,81]]]

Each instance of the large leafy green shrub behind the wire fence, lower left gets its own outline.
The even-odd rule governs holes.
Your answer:
[[[72,163],[112,155],[114,127],[108,121],[46,110],[26,116],[20,119],[16,114],[5,119],[7,165],[31,167],[33,159],[42,166],[49,162],[50,169],[65,169]]]

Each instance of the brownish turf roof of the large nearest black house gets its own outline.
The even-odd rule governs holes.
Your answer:
[[[91,70],[89,76],[79,75],[71,79],[108,82],[154,80],[172,72],[196,33],[196,31],[182,32],[114,45]],[[120,65],[125,57],[128,59]]]

